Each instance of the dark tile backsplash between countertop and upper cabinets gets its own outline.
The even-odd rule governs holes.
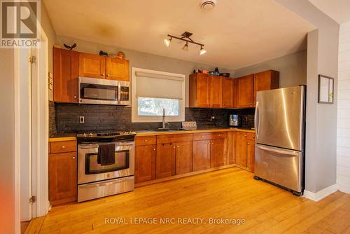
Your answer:
[[[130,106],[49,103],[50,136],[73,132],[99,132],[110,130],[148,130],[161,128],[162,123],[132,123]],[[243,128],[254,125],[254,109],[197,109],[186,108],[185,120],[197,121],[198,127],[228,124],[230,113],[241,115]],[[79,116],[85,123],[79,123]],[[211,116],[215,116],[211,121]],[[181,122],[170,123],[169,128],[181,128]]]

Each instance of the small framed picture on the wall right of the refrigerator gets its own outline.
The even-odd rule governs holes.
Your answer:
[[[334,78],[318,75],[318,103],[334,103]]]

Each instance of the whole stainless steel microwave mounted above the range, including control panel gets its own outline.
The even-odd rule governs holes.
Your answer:
[[[130,105],[130,82],[79,77],[79,103]]]

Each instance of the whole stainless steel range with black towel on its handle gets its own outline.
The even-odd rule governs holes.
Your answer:
[[[78,202],[134,190],[135,135],[135,132],[108,132],[76,136]],[[99,147],[109,144],[115,145],[114,163],[101,165],[97,163]]]

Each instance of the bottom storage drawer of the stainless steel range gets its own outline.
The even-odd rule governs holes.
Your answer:
[[[78,185],[78,202],[134,190],[134,176]]]

